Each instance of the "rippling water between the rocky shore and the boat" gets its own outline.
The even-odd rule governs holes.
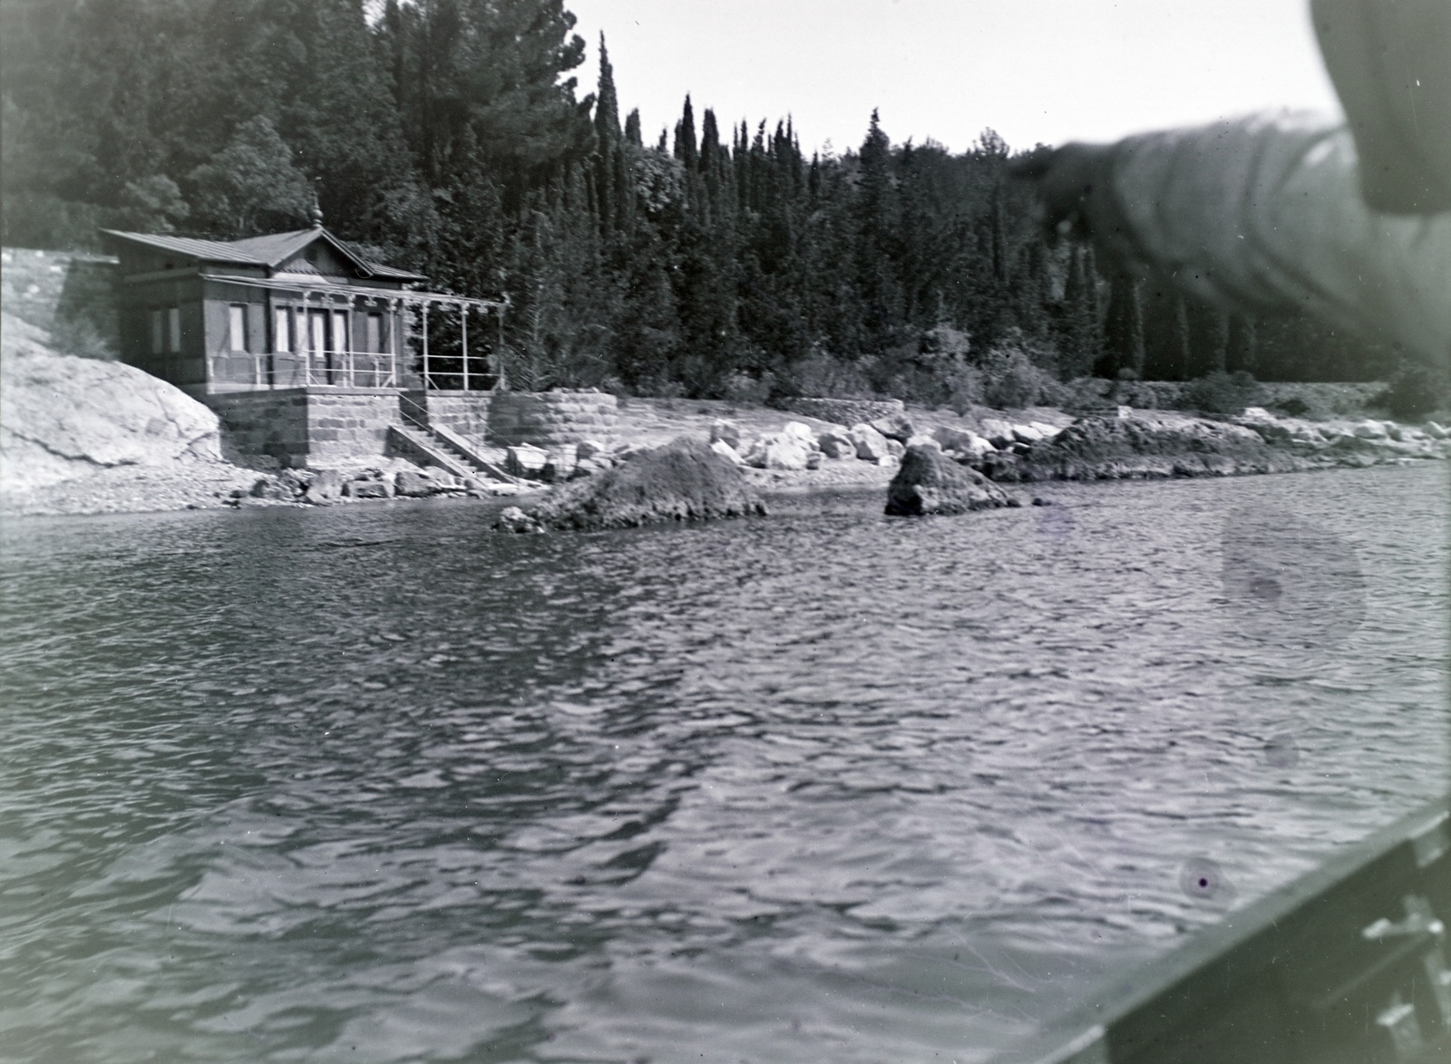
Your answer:
[[[0,1055],[948,1061],[1444,791],[1434,467],[3,528]]]

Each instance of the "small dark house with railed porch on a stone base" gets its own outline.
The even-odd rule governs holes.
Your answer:
[[[120,358],[216,410],[237,454],[296,467],[403,452],[447,467],[447,448],[467,445],[441,433],[486,432],[498,367],[470,352],[470,319],[502,328],[505,302],[427,291],[422,274],[329,233],[316,209],[308,229],[239,241],[102,236]]]

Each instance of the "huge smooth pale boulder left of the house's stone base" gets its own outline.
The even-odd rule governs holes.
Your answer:
[[[28,490],[116,465],[219,462],[216,415],[122,362],[77,358],[44,329],[0,320],[0,490]]]

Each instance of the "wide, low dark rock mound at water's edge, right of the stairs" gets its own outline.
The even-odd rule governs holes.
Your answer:
[[[682,436],[589,480],[556,490],[531,515],[544,528],[636,528],[666,520],[765,515],[733,462]]]

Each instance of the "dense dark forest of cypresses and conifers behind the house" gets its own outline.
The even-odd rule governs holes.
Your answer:
[[[673,129],[593,93],[562,0],[0,0],[3,242],[306,223],[508,296],[509,386],[769,402],[1049,397],[1084,375],[1367,380],[1389,352],[1049,246],[1008,146],[844,155],[789,119]],[[789,101],[784,101],[789,103]],[[863,120],[866,116],[863,116]]]

